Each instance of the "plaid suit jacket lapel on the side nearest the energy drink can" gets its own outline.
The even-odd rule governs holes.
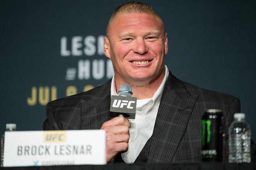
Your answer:
[[[148,163],[171,162],[198,96],[191,96],[182,81],[167,79],[150,140]]]

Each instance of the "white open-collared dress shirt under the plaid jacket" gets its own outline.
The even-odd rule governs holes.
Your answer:
[[[129,147],[127,152],[122,153],[122,159],[125,163],[134,163],[139,153],[144,148],[147,140],[152,136],[154,124],[157,118],[157,111],[164,91],[164,84],[168,78],[169,70],[165,65],[164,79],[154,93],[152,98],[137,100],[135,119],[129,119],[131,127],[129,129]],[[114,83],[114,76],[111,82],[111,95],[118,96]],[[136,96],[135,96],[136,97]]]

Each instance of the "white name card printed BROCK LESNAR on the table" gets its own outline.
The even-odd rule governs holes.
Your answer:
[[[5,132],[4,167],[104,165],[104,130]]]

